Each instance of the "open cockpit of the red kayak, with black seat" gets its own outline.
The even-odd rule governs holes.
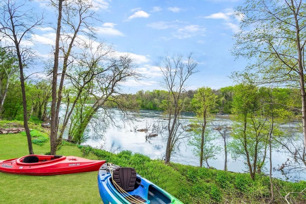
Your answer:
[[[16,160],[17,165],[39,165],[42,162],[51,163],[64,160],[66,157],[61,155],[27,155]]]

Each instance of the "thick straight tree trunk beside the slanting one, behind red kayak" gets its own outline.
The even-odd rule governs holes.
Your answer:
[[[59,40],[61,35],[61,20],[62,20],[62,4],[63,0],[58,1],[58,21],[55,38],[54,65],[52,77],[52,101],[51,101],[51,121],[50,121],[50,154],[56,154],[56,138],[58,132],[58,121],[56,117],[56,101],[57,101],[57,76],[58,76],[58,55],[59,55]]]

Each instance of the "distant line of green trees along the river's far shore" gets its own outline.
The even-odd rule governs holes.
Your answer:
[[[233,111],[233,99],[235,97],[235,90],[237,87],[228,86],[222,87],[220,89],[211,89],[211,92],[216,96],[215,106],[210,111],[210,113],[220,113],[220,114],[234,114]],[[286,103],[295,103],[296,106],[299,105],[300,100],[299,90],[295,88],[284,88],[284,87],[274,87],[274,92],[278,93],[278,97],[286,101]],[[198,94],[197,90],[188,90],[182,92],[182,111],[194,112],[196,113],[195,107],[195,95]],[[168,91],[165,90],[153,90],[153,91],[137,91],[136,94],[129,94],[128,100],[129,104],[133,104],[135,108],[138,109],[149,109],[149,110],[165,110],[165,103],[167,101]],[[91,100],[88,99],[88,103]],[[116,107],[116,104],[106,103],[108,107]],[[292,110],[293,113],[298,114],[297,110]]]

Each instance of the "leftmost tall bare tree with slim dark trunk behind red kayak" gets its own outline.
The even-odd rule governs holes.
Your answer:
[[[35,14],[33,9],[25,9],[27,1],[6,0],[0,4],[0,33],[1,37],[8,42],[8,47],[16,54],[18,59],[20,82],[22,92],[24,129],[28,139],[30,154],[34,154],[31,134],[28,127],[27,98],[24,84],[24,68],[33,63],[35,54],[30,47],[24,46],[24,42],[31,40],[33,30],[43,23],[43,17]],[[25,11],[24,11],[25,9]]]

